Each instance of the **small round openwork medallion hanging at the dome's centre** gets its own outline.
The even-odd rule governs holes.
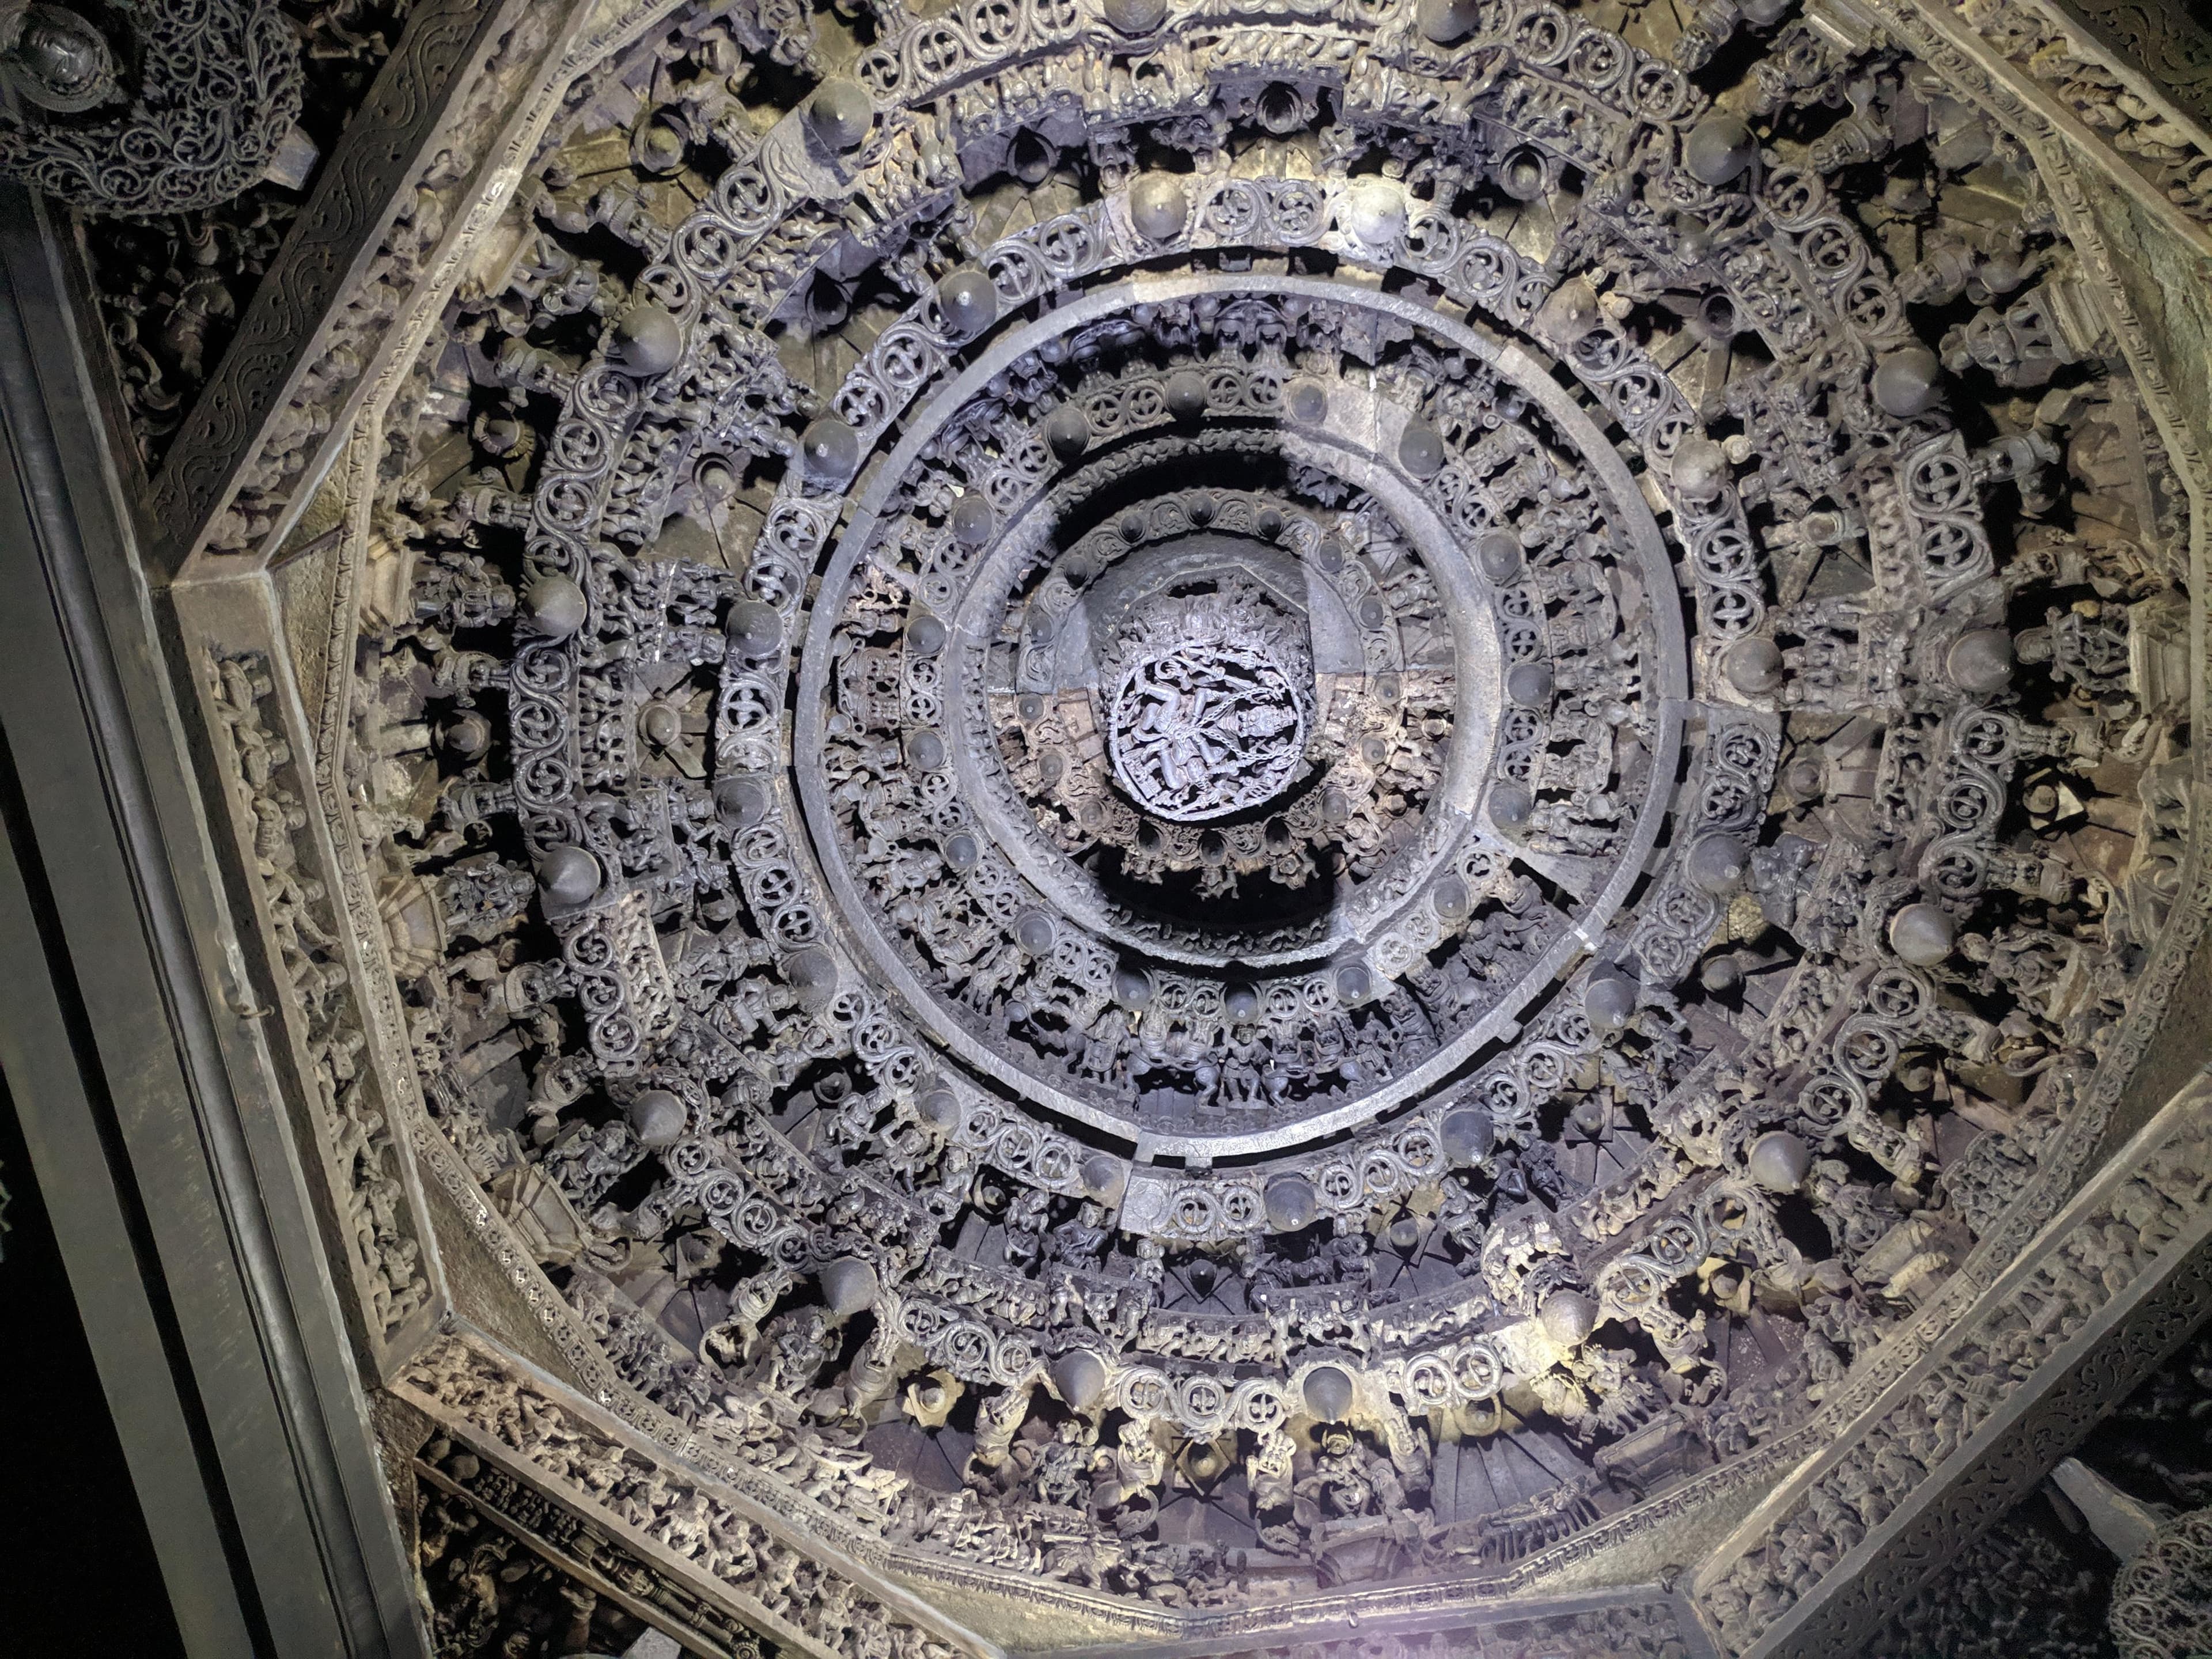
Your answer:
[[[1135,655],[1106,734],[1115,781],[1137,805],[1206,823],[1274,801],[1298,779],[1312,670],[1298,675],[1276,650],[1259,628],[1206,628]]]

